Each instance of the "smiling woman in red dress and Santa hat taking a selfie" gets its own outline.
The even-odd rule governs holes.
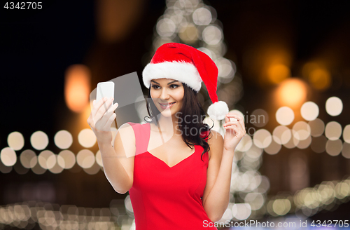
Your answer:
[[[114,147],[109,128],[118,104],[107,112],[113,98],[94,104],[87,122],[104,172],[118,193],[130,192],[137,230],[216,229],[213,222],[228,208],[233,155],[246,132],[243,118],[218,102],[217,76],[216,65],[200,50],[160,46],[143,72],[151,122],[125,123]],[[225,119],[224,138],[203,123],[196,97],[202,81],[214,102],[208,114]]]

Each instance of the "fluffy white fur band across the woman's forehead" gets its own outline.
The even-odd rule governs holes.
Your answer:
[[[146,88],[150,88],[152,79],[174,79],[186,83],[196,92],[200,91],[202,78],[197,68],[188,62],[148,63],[142,72]]]

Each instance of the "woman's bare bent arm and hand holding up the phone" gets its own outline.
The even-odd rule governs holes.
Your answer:
[[[135,136],[132,127],[126,123],[119,128],[114,148],[112,147],[111,123],[116,119],[114,110],[118,107],[118,103],[112,104],[113,97],[109,99],[104,97],[99,102],[94,100],[87,123],[97,137],[107,180],[114,190],[125,194],[133,183]],[[111,108],[106,110],[109,107]]]

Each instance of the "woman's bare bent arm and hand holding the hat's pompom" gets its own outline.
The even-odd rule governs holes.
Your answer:
[[[237,121],[230,121],[230,118]],[[225,121],[225,139],[220,133],[212,130],[212,137],[208,140],[210,159],[202,201],[204,210],[212,222],[218,222],[228,208],[233,156],[237,144],[246,133],[243,118],[240,116],[228,114]]]

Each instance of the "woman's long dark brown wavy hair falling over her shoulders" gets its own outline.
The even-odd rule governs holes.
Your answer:
[[[192,88],[188,87],[186,83],[182,83],[183,89],[184,89],[184,95],[183,95],[183,105],[179,112],[179,116],[176,117],[179,118],[179,128],[182,133],[182,139],[187,144],[190,149],[193,149],[195,145],[200,145],[203,147],[204,151],[202,152],[201,159],[203,161],[203,154],[205,154],[207,151],[210,150],[209,144],[205,139],[209,137],[209,133],[207,136],[200,137],[200,131],[208,131],[213,128],[209,127],[207,123],[203,123],[203,119],[205,117],[204,109],[202,108],[202,105],[197,99],[197,92],[193,90]],[[144,121],[147,123],[154,122],[155,125],[158,126],[158,114],[160,114],[160,111],[155,107],[155,104],[151,97],[151,86],[148,89],[148,100],[147,100],[147,112],[149,116],[146,116],[144,118]],[[190,122],[184,122],[190,120]],[[148,121],[146,120],[148,118]],[[196,119],[197,118],[197,119]],[[151,121],[149,121],[151,119]],[[198,122],[193,122],[194,120]],[[187,130],[196,130],[197,135],[191,135],[191,132],[186,132]],[[193,144],[192,144],[193,143]],[[192,146],[192,147],[191,147]]]

